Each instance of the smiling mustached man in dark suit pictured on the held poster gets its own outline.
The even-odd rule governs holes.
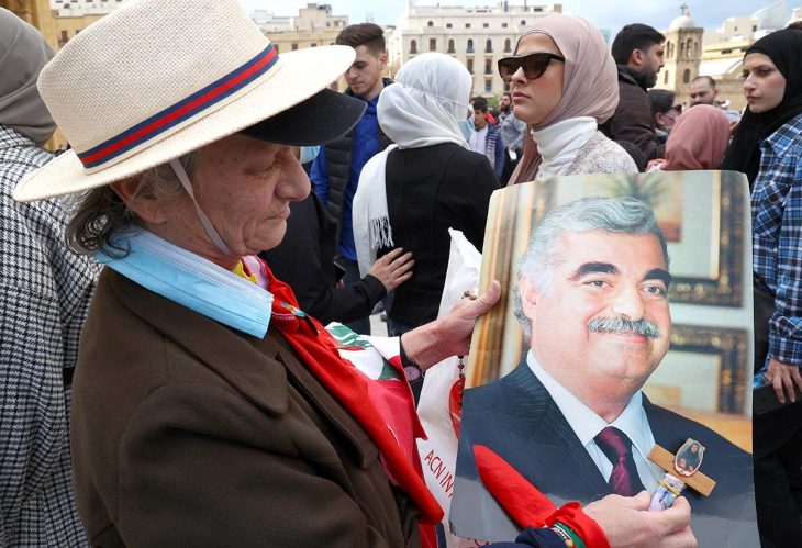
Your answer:
[[[709,497],[691,489],[700,546],[758,546],[750,456],[653,404],[641,389],[669,348],[671,284],[654,211],[630,198],[582,198],[548,212],[517,262],[515,315],[531,348],[506,377],[466,391],[452,526],[509,538],[514,524],[478,478],[474,445],[495,451],[558,506],[655,493],[655,444],[705,448]]]

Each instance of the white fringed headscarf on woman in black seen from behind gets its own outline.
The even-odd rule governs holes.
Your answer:
[[[394,148],[422,148],[441,143],[470,149],[459,122],[472,112],[468,104],[471,86],[470,72],[457,59],[426,53],[401,67],[396,83],[379,96],[379,125],[396,145],[365,165],[354,197],[354,241],[361,276],[376,260],[379,247],[393,246],[387,210],[387,156]]]

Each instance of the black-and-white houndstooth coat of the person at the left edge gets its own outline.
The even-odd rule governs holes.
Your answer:
[[[52,156],[0,125],[0,546],[86,546],[69,460],[69,390],[98,267],[64,244],[55,200],[11,191]]]

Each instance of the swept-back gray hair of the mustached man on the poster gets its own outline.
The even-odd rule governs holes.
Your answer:
[[[666,237],[657,224],[655,212],[646,202],[632,197],[582,198],[560,205],[548,212],[532,232],[528,247],[515,266],[515,287],[513,306],[515,317],[524,327],[526,335],[532,334],[532,322],[523,312],[519,293],[522,276],[542,291],[552,289],[552,267],[561,250],[559,237],[562,234],[582,234],[603,231],[619,234],[654,234],[660,243],[662,257],[668,268]]]

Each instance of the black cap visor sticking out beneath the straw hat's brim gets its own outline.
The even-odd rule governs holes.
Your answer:
[[[241,133],[282,145],[323,145],[348,133],[367,107],[365,101],[324,89]]]

